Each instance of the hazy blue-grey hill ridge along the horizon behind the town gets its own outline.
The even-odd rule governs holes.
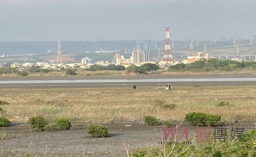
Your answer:
[[[246,41],[247,42],[247,41]],[[190,50],[190,40],[173,41],[174,50]],[[194,50],[201,51],[206,43],[207,48],[216,48],[223,46],[233,46],[230,40],[226,41],[203,41],[194,40]],[[172,41],[171,41],[172,44]],[[139,47],[148,50],[157,50],[164,48],[164,41],[153,40],[120,40],[120,41],[62,41],[62,52],[94,52],[100,50],[107,51],[131,51]],[[14,54],[46,54],[54,53],[57,50],[57,41],[44,42],[0,42],[0,54],[14,55]]]

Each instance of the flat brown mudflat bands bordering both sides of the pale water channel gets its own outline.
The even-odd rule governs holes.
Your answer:
[[[108,76],[17,76],[0,77],[0,81],[28,81],[28,80],[97,80],[97,79],[214,79],[214,78],[256,78],[256,74],[202,74],[202,75],[108,75]],[[128,83],[15,83],[0,84],[0,88],[70,88],[70,87],[162,87],[170,82],[128,82]],[[241,86],[256,85],[256,81],[211,81],[211,82],[173,82],[172,86]]]

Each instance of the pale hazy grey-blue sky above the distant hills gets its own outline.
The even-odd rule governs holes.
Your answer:
[[[256,0],[0,0],[0,41],[252,38]]]

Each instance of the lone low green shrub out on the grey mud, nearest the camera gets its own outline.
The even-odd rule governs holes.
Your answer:
[[[92,125],[87,126],[87,132],[93,137],[108,137],[110,136],[106,126],[102,125]]]

